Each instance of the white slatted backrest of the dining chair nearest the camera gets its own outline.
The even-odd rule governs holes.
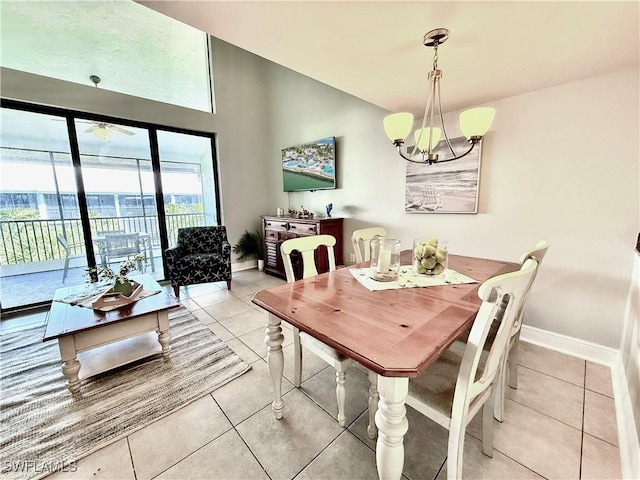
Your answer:
[[[469,333],[454,394],[453,409],[467,410],[464,414],[458,410],[455,412],[456,415],[452,411],[452,423],[456,416],[464,418],[467,416],[466,413],[473,415],[470,410],[473,410],[474,400],[480,400],[483,393],[490,392],[489,387],[495,380],[500,369],[500,361],[506,353],[511,328],[537,268],[538,262],[530,259],[520,270],[495,276],[480,286],[478,296],[482,299],[482,305]],[[476,378],[494,319],[500,322],[500,326],[484,361],[482,375]]]

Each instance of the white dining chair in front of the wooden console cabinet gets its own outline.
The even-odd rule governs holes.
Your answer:
[[[318,275],[315,263],[316,250],[320,246],[327,249],[327,257],[329,262],[329,271],[336,269],[335,252],[333,247],[336,244],[335,237],[331,235],[312,235],[307,237],[298,237],[285,240],[280,244],[280,252],[284,263],[284,270],[287,276],[287,282],[295,282],[295,272],[292,256],[298,252],[302,260],[302,278],[313,277]],[[300,388],[302,382],[302,347],[313,352],[322,360],[327,362],[336,370],[336,398],[338,401],[338,423],[340,426],[345,424],[345,383],[346,371],[353,361],[330,346],[322,343],[320,340],[311,335],[301,332],[293,327],[293,348],[294,348],[294,374],[293,384],[296,388]]]

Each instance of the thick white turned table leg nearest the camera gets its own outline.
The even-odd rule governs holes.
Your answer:
[[[399,480],[404,467],[404,434],[409,429],[404,406],[409,379],[378,376],[376,465],[380,480]]]

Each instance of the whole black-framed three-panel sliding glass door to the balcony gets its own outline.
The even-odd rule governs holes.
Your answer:
[[[178,229],[218,224],[211,135],[8,101],[0,133],[3,311],[85,283],[87,267],[117,267],[129,255],[109,250],[114,235],[136,237],[141,269],[164,280]]]

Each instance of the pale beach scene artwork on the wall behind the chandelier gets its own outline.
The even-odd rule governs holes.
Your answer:
[[[465,137],[451,139],[455,152],[469,148]],[[413,147],[407,147],[411,152]],[[440,159],[451,158],[445,141],[435,152]],[[482,141],[467,156],[433,165],[406,162],[405,212],[407,213],[478,213],[480,159]]]

